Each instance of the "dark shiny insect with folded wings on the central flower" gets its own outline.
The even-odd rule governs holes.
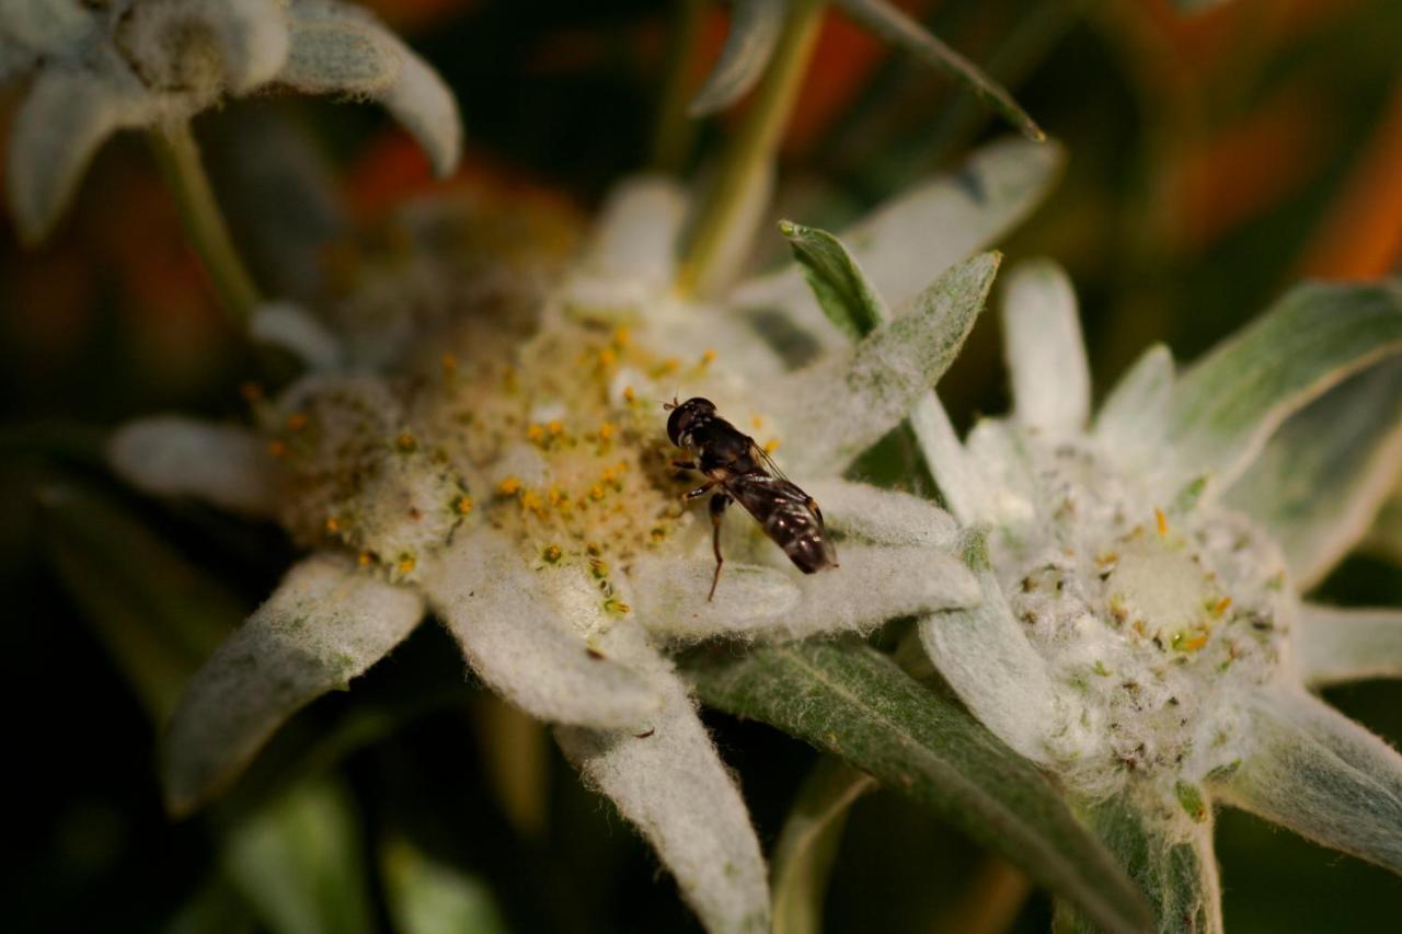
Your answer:
[[[673,400],[662,408],[672,412],[667,417],[667,438],[691,454],[691,460],[676,460],[673,466],[700,470],[707,478],[687,494],[687,499],[715,489],[711,495],[715,576],[707,602],[715,597],[715,586],[721,582],[721,565],[725,564],[721,520],[732,499],[754,516],[764,534],[784,548],[784,554],[803,574],[837,567],[837,550],[823,527],[817,502],[785,477],[753,438],[721,418],[715,402],[694,397],[680,404]]]

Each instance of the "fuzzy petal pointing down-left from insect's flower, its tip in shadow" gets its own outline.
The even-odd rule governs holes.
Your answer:
[[[345,690],[423,616],[412,590],[314,555],[195,673],[171,718],[165,799],[188,812],[217,792],[293,712]]]

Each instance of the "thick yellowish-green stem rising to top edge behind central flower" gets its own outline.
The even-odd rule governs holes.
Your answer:
[[[823,0],[794,0],[789,6],[788,21],[754,102],[730,140],[719,180],[693,227],[677,276],[677,290],[683,295],[693,295],[707,285],[725,244],[739,233],[736,226],[746,213],[746,202],[756,195],[774,161],[780,136],[813,56],[823,6]]]

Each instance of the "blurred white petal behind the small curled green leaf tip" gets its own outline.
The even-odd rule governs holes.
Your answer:
[[[984,146],[958,172],[907,189],[838,238],[899,314],[945,269],[994,243],[1042,201],[1060,147],[1008,137]],[[847,335],[819,310],[796,266],[742,283],[736,307],[778,307],[829,348]]]

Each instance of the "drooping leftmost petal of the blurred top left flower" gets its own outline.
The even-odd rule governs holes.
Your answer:
[[[154,121],[161,107],[130,79],[45,69],[10,129],[7,182],[20,238],[29,245],[43,240],[102,143],[122,128]]]

